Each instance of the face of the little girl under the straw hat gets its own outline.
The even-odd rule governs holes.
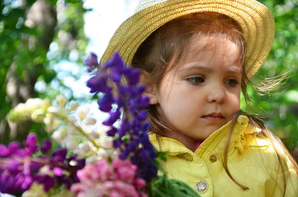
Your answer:
[[[157,94],[160,115],[193,139],[206,139],[240,109],[239,47],[224,38],[204,38],[190,42],[181,66],[165,74]]]

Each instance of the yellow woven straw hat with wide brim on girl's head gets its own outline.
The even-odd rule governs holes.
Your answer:
[[[133,16],[116,30],[100,65],[118,51],[127,65],[148,36],[174,18],[197,12],[219,12],[238,22],[246,44],[245,71],[251,78],[265,62],[274,39],[270,10],[256,0],[141,0]]]

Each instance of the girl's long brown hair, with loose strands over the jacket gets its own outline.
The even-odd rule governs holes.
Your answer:
[[[244,54],[245,54],[245,44],[244,36],[241,33],[241,28],[233,19],[216,12],[205,12],[205,13],[195,13],[186,16],[173,19],[170,22],[159,27],[154,31],[138,48],[133,61],[133,67],[139,67],[143,73],[142,83],[149,87],[158,88],[162,77],[170,70],[175,63],[179,62],[184,53],[187,53],[187,45],[189,41],[194,36],[198,35],[212,35],[216,37],[224,37],[233,41],[241,50],[240,57],[242,58],[242,66],[244,65]],[[285,78],[285,77],[284,77]],[[278,79],[280,82],[282,79]],[[247,84],[251,83],[245,74],[245,69],[243,69],[241,90],[245,98],[246,103],[248,103],[249,97],[247,93]],[[271,83],[272,84],[272,83]],[[276,83],[279,84],[279,83]],[[274,87],[274,85],[272,86]],[[257,87],[256,87],[257,88]],[[268,87],[267,87],[268,88]],[[259,90],[264,90],[262,88],[257,88]],[[151,131],[156,133],[157,139],[159,136],[166,136],[166,130],[175,131],[174,128],[170,128],[166,122],[157,113],[158,104],[150,105],[147,108],[148,111],[148,122],[151,124]],[[283,156],[276,147],[278,144],[284,150],[289,158],[291,159],[293,166],[298,172],[298,165],[294,161],[291,154],[282,145],[282,143],[275,137],[265,126],[265,124],[256,115],[248,115],[242,111],[235,114],[230,132],[228,133],[227,141],[224,148],[223,156],[223,166],[228,174],[228,176],[236,183],[241,189],[247,190],[248,188],[238,183],[230,174],[227,168],[227,151],[230,142],[230,136],[232,129],[236,124],[237,117],[240,114],[244,114],[249,118],[249,123],[255,125],[262,129],[262,132],[258,135],[261,137],[266,137],[271,140],[273,146],[277,152],[280,165],[283,172],[287,170],[287,166],[282,165]],[[284,193],[286,191],[286,181],[284,175]]]

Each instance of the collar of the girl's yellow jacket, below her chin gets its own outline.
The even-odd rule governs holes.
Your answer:
[[[212,133],[207,139],[203,141],[203,143],[197,148],[197,150],[193,153],[186,146],[184,146],[179,141],[169,138],[169,137],[159,137],[160,146],[158,144],[157,136],[154,133],[149,134],[149,140],[155,146],[157,150],[161,150],[167,152],[168,155],[184,155],[186,153],[195,154],[199,157],[204,157],[210,152],[216,151],[221,154],[224,153],[224,146],[227,139],[227,134],[230,131],[230,125],[232,121],[229,121],[223,127]],[[240,115],[237,119],[237,122],[234,126],[233,132],[231,134],[230,143],[228,147],[228,151],[231,149],[238,148],[240,152],[244,152],[246,148],[248,148],[253,139],[261,129],[253,127],[248,124],[249,120],[246,116]],[[266,146],[268,144],[265,144]],[[207,150],[207,151],[206,151]]]

